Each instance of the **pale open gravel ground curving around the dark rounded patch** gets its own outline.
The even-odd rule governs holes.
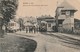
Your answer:
[[[62,40],[72,41],[73,39],[63,37],[62,35],[60,36],[58,33],[56,34],[57,34],[56,36],[53,35],[52,33],[51,34],[38,33],[36,35],[36,33],[28,34],[28,33],[19,32],[19,34],[9,33],[8,35],[15,35],[18,37],[25,37],[25,38],[35,40],[37,42],[37,48],[34,52],[80,52],[80,49],[71,47],[72,44],[70,45],[68,43],[62,42]]]

